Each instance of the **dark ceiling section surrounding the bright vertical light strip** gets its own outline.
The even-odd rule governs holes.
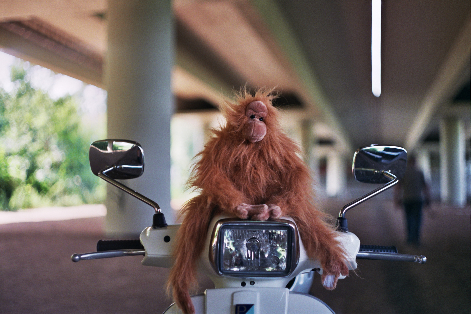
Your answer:
[[[470,19],[469,1],[383,1],[382,94],[376,98],[371,92],[371,1],[281,4],[356,146],[405,145],[425,94]],[[462,71],[469,72],[469,66]],[[463,83],[457,77],[455,91]]]

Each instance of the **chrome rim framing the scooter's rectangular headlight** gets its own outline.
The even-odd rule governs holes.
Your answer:
[[[290,254],[287,255],[286,260],[286,271],[283,274],[279,272],[267,272],[267,273],[253,273],[250,271],[221,271],[219,264],[220,264],[220,256],[218,254],[219,250],[221,250],[221,229],[222,227],[228,227],[234,225],[237,228],[241,228],[243,226],[249,228],[260,228],[260,229],[270,229],[271,227],[274,229],[284,229],[289,233],[290,241],[288,243],[287,249],[290,251]],[[212,268],[216,272],[216,274],[220,276],[228,276],[228,277],[237,277],[237,278],[263,278],[263,277],[278,277],[278,278],[285,278],[289,277],[296,266],[298,265],[300,257],[299,252],[299,235],[298,229],[296,224],[291,220],[286,219],[276,219],[276,220],[267,220],[267,221],[254,221],[254,220],[243,220],[240,218],[224,218],[220,219],[214,225],[213,231],[211,233],[211,243],[210,243],[210,250],[209,250],[209,260]]]

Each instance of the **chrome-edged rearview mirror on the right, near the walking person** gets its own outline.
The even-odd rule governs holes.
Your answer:
[[[406,172],[407,152],[398,146],[371,145],[357,149],[353,155],[353,176],[364,183],[388,183],[388,171],[401,179]]]

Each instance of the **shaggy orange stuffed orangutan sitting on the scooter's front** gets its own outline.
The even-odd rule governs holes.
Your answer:
[[[292,217],[308,256],[321,262],[325,288],[334,289],[339,275],[348,275],[333,228],[315,208],[300,149],[281,130],[271,104],[274,97],[271,90],[240,92],[238,101],[223,110],[226,126],[214,130],[215,136],[197,155],[189,185],[201,193],[180,210],[183,222],[168,283],[185,314],[195,313],[188,290],[196,283],[196,263],[209,223],[220,213],[260,221]]]

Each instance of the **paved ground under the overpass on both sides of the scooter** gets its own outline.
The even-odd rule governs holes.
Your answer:
[[[335,215],[342,204],[325,202]],[[396,245],[426,255],[424,265],[360,261],[357,274],[311,293],[337,314],[470,313],[470,209],[435,205],[424,221],[422,246],[404,245],[402,212],[390,202],[365,202],[348,212],[350,230],[364,244]],[[72,263],[102,238],[103,217],[0,225],[0,313],[162,313],[168,270],[140,265],[140,257]],[[211,282],[201,279],[201,290]]]

